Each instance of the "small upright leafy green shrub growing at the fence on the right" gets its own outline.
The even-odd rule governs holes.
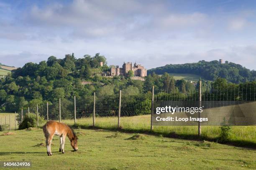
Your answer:
[[[226,143],[231,139],[231,126],[230,126],[230,124],[228,124],[225,117],[223,119],[223,122],[221,122],[220,125],[221,125],[220,126],[221,132],[220,132],[219,142]]]

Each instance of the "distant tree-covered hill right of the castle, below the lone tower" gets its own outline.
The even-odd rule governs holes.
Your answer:
[[[191,73],[202,76],[206,80],[216,80],[218,77],[225,78],[229,82],[240,83],[256,80],[256,71],[249,70],[242,65],[225,61],[220,64],[217,60],[207,62],[205,60],[196,63],[169,64],[148,70],[148,74],[167,73]]]

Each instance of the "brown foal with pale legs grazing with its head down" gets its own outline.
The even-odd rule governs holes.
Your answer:
[[[64,123],[59,123],[55,121],[49,121],[43,126],[44,136],[46,138],[46,147],[47,147],[47,155],[52,155],[51,153],[51,140],[54,135],[60,137],[60,147],[59,152],[64,153],[64,145],[66,136],[69,138],[71,142],[71,146],[74,151],[77,151],[77,136],[74,131],[69,128],[68,125]]]

